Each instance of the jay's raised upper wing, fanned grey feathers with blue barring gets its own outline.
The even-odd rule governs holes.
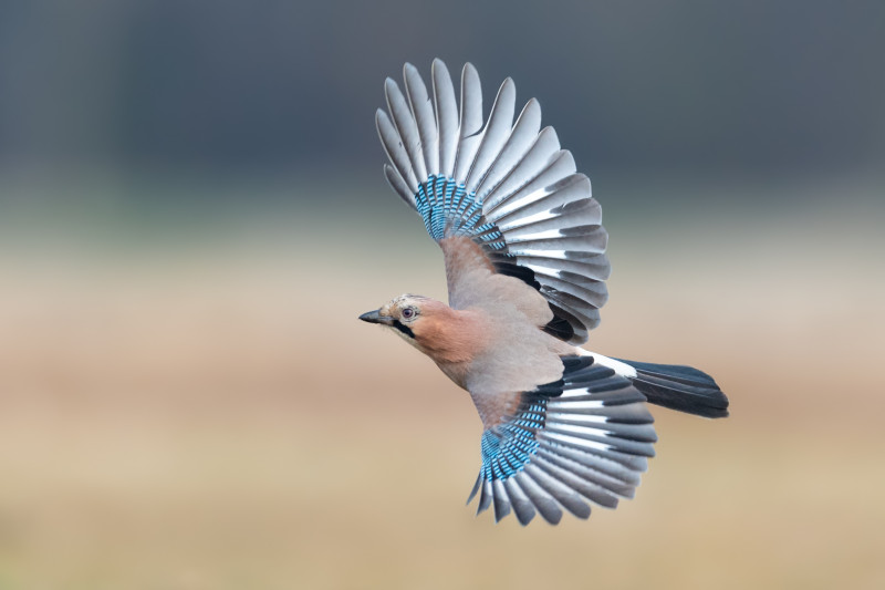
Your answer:
[[[415,66],[404,70],[405,94],[387,79],[389,114],[376,115],[391,186],[435,240],[468,236],[496,272],[538,289],[554,315],[544,329],[582,344],[600,321],[610,272],[607,234],[590,179],[576,173],[553,128],[541,130],[534,99],[513,121],[512,80],[504,80],[483,124],[471,64],[461,73],[460,110],[440,60],[433,64],[431,92]]]

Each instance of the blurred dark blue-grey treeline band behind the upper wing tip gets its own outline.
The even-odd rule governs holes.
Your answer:
[[[506,75],[612,169],[867,167],[885,3],[90,0],[0,4],[0,161],[248,172],[381,162],[404,61]],[[2,162],[0,162],[2,164]]]

